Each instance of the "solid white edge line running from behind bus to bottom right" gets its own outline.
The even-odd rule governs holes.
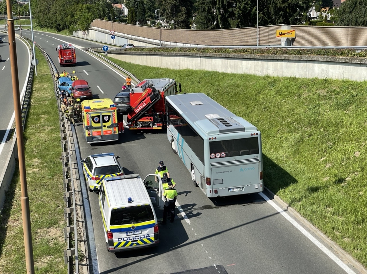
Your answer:
[[[343,263],[337,256],[335,256],[329,249],[327,249],[321,242],[319,242],[315,237],[313,237],[306,229],[304,229],[299,223],[294,221],[284,210],[278,207],[272,200],[269,199],[264,193],[260,192],[259,195],[267,201],[276,211],[278,211],[284,218],[287,219],[292,225],[294,225],[302,234],[304,234],[310,241],[312,241],[318,248],[321,249],[327,256],[330,257],[335,263],[338,264],[346,273],[356,274],[352,269],[350,269],[345,263]]]

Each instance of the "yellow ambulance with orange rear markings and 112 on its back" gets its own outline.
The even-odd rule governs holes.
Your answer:
[[[83,131],[88,143],[119,140],[116,110],[111,99],[81,102]]]

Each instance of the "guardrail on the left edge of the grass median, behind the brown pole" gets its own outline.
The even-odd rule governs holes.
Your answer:
[[[22,37],[20,37],[22,38]],[[25,42],[28,44],[29,49],[31,48],[28,41],[25,40]],[[32,52],[32,51],[31,51]],[[33,52],[30,55],[30,60],[33,59]],[[26,124],[27,116],[28,116],[28,110],[30,105],[30,95],[32,93],[32,82],[33,82],[33,73],[34,73],[34,66],[30,64],[29,60],[29,69],[28,69],[28,81],[25,88],[25,93],[23,98],[21,98],[21,110],[22,110],[22,126],[23,130]],[[5,192],[10,186],[16,162],[18,158],[18,147],[17,147],[17,134],[14,132],[14,139],[11,144],[10,152],[8,155],[8,158],[6,160],[6,164],[4,166],[4,170],[0,177],[0,209],[3,208],[4,201],[5,201]]]

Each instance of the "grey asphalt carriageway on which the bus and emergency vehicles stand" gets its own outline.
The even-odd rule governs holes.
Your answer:
[[[30,32],[23,31],[23,35],[29,36]],[[35,40],[56,65],[55,47],[60,42],[67,41],[80,47],[95,46],[91,42],[47,33],[36,32]],[[120,91],[123,78],[80,49],[76,50],[76,55],[78,64],[70,67],[69,73],[75,69],[79,79],[88,81],[96,97],[113,99]],[[195,273],[346,273],[348,270],[344,264],[339,266],[330,259],[261,195],[208,199],[193,186],[189,171],[172,153],[165,133],[132,134],[126,130],[118,142],[91,146],[86,143],[81,129],[77,124],[82,158],[114,152],[121,156],[126,174],[139,173],[142,177],[154,173],[159,160],[163,160],[177,182],[178,203],[188,216],[186,221],[178,214],[173,224],[160,226],[159,247],[109,253],[97,194],[88,193],[99,273],[180,273],[203,268],[206,269]],[[285,171],[284,175],[287,175]],[[158,218],[162,215],[163,212],[157,211]],[[326,249],[326,252],[333,256],[333,251]]]

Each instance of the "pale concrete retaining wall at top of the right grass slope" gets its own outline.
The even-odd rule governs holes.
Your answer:
[[[167,69],[211,70],[259,76],[367,80],[366,58],[172,52],[109,52],[108,56],[134,64]]]

